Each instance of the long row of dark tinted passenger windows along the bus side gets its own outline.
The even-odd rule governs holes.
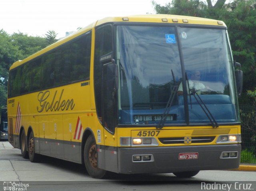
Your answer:
[[[89,79],[91,32],[10,71],[8,96]]]

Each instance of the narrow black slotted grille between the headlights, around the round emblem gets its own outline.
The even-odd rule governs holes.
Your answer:
[[[192,143],[210,143],[214,140],[215,136],[210,137],[192,137]],[[172,137],[172,138],[159,138],[162,144],[184,144],[184,137]]]

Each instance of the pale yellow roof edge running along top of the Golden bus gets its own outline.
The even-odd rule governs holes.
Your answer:
[[[191,16],[180,16],[180,15],[146,14],[146,15],[133,15],[133,16],[120,16],[120,17],[106,17],[106,18],[100,19],[100,20],[78,30],[75,33],[72,33],[71,35],[57,41],[56,43],[53,43],[52,45],[49,45],[48,47],[38,51],[37,53],[34,53],[33,55],[25,58],[24,60],[19,60],[19,61],[14,62],[12,64],[12,66],[10,67],[10,70],[54,49],[55,47],[58,47],[61,44],[66,43],[67,41],[69,41],[75,37],[78,37],[79,35],[81,35],[83,33],[86,33],[88,31],[92,30],[92,28],[95,26],[100,26],[100,25],[102,25],[104,23],[108,23],[108,22],[176,23],[176,24],[196,24],[196,25],[226,27],[226,25],[222,21],[206,19],[206,18],[199,18],[199,17],[191,17]]]

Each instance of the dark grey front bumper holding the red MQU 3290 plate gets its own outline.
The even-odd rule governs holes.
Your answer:
[[[118,172],[124,174],[236,169],[240,163],[241,145],[119,147],[117,153]]]

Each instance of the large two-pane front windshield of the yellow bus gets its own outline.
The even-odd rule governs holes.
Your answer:
[[[176,86],[180,94],[166,124],[184,124],[186,118],[190,124],[209,124],[200,104],[189,96],[195,87],[218,123],[239,120],[226,30],[117,26],[116,36],[119,124],[158,124]],[[185,76],[187,81],[182,80]]]

